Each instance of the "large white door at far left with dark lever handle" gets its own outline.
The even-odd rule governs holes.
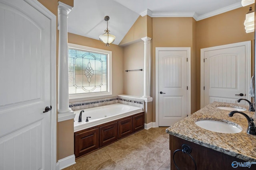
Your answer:
[[[0,169],[50,170],[50,19],[0,0]]]

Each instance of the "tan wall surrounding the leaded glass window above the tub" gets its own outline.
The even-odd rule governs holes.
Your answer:
[[[104,43],[102,43],[99,40],[83,37],[83,36],[72,34],[72,33],[68,33],[68,42],[73,44],[78,44],[78,45],[84,45],[87,47],[93,47],[93,48],[112,51],[112,95],[70,100],[70,102],[107,98],[107,97],[117,96],[118,94],[124,93],[123,47],[120,47],[114,44],[110,44],[110,47],[106,47],[104,46]]]

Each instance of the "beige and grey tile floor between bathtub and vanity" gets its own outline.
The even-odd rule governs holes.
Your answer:
[[[77,159],[64,170],[170,170],[166,128],[143,129]]]

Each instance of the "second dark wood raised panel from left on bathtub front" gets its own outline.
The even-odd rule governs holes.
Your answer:
[[[100,147],[108,145],[118,139],[117,122],[100,127]]]

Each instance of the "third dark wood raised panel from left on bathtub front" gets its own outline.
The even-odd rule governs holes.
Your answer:
[[[132,117],[118,121],[118,139],[132,134]]]

